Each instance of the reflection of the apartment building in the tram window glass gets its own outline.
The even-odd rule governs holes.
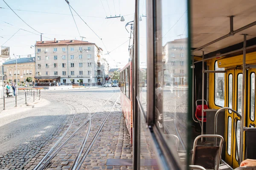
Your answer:
[[[187,85],[186,39],[167,42],[163,46],[164,81],[166,85]]]

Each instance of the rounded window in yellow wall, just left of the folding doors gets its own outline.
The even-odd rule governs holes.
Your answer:
[[[215,61],[215,70],[224,71],[225,68],[218,68],[218,62]],[[215,73],[214,85],[215,85],[215,105],[223,107],[224,106],[224,82],[225,82],[225,73]]]

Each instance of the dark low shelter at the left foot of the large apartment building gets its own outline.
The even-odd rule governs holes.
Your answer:
[[[61,81],[60,76],[51,76],[51,77],[35,77],[35,82],[37,86],[51,86],[56,85],[57,82]]]

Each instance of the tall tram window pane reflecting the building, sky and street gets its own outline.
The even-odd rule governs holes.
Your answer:
[[[155,59],[155,122],[183,165],[187,147],[187,24],[186,0],[162,0],[162,55]]]

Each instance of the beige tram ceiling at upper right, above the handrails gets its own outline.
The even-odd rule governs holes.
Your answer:
[[[244,38],[241,34],[248,34],[247,40],[256,37],[255,8],[255,0],[192,1],[193,55],[202,56],[201,48],[209,54],[239,44]],[[235,16],[233,21],[230,16]]]

